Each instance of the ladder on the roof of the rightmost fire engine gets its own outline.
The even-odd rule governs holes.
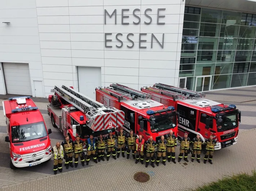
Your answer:
[[[175,92],[175,93],[180,93],[181,95],[188,96],[187,98],[202,98],[205,97],[206,94],[204,93],[199,93],[195,92],[192,90],[187,90],[183,88],[177,88],[171,85],[166,85],[166,84],[161,84],[161,83],[156,83],[153,85],[154,88],[161,89],[161,90],[166,90],[168,92]]]

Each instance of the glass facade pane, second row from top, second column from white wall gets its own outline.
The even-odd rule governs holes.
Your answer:
[[[199,36],[202,37],[219,37],[220,24],[201,23]]]

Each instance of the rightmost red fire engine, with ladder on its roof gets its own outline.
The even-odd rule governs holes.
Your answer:
[[[238,124],[241,112],[233,104],[225,105],[209,99],[206,94],[156,83],[153,87],[143,87],[152,99],[177,108],[180,113],[178,136],[187,132],[190,138],[199,134],[203,140],[212,134],[217,141],[215,149],[237,143]]]

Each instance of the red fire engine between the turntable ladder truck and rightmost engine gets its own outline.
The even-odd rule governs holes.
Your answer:
[[[150,136],[156,141],[172,129],[177,135],[177,115],[175,108],[166,107],[151,98],[148,93],[111,84],[110,87],[96,88],[96,100],[124,111],[124,130],[142,135],[145,140]]]

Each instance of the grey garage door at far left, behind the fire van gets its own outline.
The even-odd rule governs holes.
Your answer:
[[[28,64],[3,63],[7,94],[32,95]]]

